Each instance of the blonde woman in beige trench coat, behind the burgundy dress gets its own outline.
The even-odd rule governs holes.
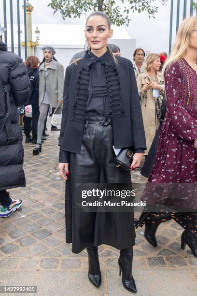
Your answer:
[[[165,91],[163,74],[158,72],[160,66],[161,62],[159,55],[150,54],[145,63],[146,71],[137,76],[147,146],[144,155],[148,154],[156,130],[159,127],[159,121],[156,114],[156,101],[162,99],[162,95]]]

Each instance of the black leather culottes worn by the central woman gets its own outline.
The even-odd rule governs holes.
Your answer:
[[[84,212],[73,202],[75,183],[131,183],[130,171],[119,172],[113,161],[112,121],[111,124],[92,122],[106,119],[109,118],[88,117],[81,153],[70,152],[66,181],[66,242],[72,243],[74,253],[91,245],[106,244],[120,250],[135,244],[133,212]]]

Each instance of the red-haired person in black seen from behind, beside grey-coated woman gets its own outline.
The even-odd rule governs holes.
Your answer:
[[[24,132],[26,134],[26,143],[37,141],[38,119],[39,119],[39,60],[36,56],[29,56],[25,65],[28,70],[28,77],[31,83],[31,97],[26,105],[32,106],[32,118],[24,117]],[[32,133],[32,138],[29,133]]]

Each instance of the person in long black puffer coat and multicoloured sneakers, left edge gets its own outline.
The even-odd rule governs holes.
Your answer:
[[[11,105],[11,130],[13,139],[8,140],[6,127],[1,126],[0,132],[0,217],[11,215],[21,205],[21,200],[10,198],[7,189],[25,187],[23,171],[22,133],[18,126],[16,106],[24,105],[30,98],[30,82],[23,60],[7,51],[2,42],[5,28],[0,26],[0,80],[6,87]],[[2,102],[1,102],[2,103]],[[7,110],[7,104],[5,106]],[[2,124],[1,124],[2,125]]]

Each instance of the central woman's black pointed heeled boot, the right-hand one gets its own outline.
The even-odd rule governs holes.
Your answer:
[[[133,263],[133,248],[127,248],[120,250],[120,257],[118,259],[118,265],[122,276],[122,283],[125,289],[130,292],[136,293],[136,284],[132,275],[132,263]]]

